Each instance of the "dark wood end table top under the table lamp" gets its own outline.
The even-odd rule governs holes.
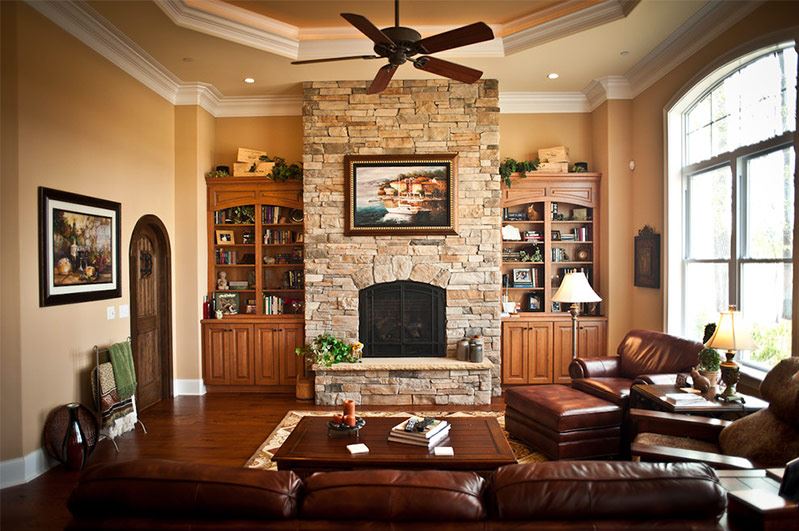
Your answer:
[[[754,396],[744,395],[744,403],[713,401],[713,405],[672,404],[666,400],[667,393],[679,393],[673,385],[636,384],[630,390],[630,407],[665,411],[667,413],[686,413],[704,417],[735,420],[768,407],[768,402]]]

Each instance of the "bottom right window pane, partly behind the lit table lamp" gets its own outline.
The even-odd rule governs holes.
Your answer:
[[[757,345],[744,363],[769,368],[791,355],[792,275],[790,263],[743,265],[741,309]]]

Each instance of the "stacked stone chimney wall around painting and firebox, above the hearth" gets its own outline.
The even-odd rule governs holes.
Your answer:
[[[499,394],[497,81],[395,81],[375,95],[369,83],[303,85],[306,340],[357,340],[359,289],[432,283],[447,291],[448,354],[464,335],[482,335]],[[458,234],[344,236],[344,155],[425,153],[458,154]]]

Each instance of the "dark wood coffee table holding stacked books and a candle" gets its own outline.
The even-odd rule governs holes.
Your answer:
[[[328,437],[330,417],[303,417],[272,460],[278,470],[300,476],[330,470],[363,468],[439,469],[493,472],[516,463],[513,451],[494,417],[447,417],[449,437],[439,446],[452,446],[454,456],[436,456],[432,450],[388,442],[388,433],[408,417],[365,417],[360,435]],[[350,455],[346,446],[364,443],[368,454]]]

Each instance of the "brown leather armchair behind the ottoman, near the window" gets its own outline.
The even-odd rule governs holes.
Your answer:
[[[616,356],[576,358],[569,365],[572,387],[626,407],[633,383],[673,384],[690,372],[703,345],[654,330],[630,330]]]

